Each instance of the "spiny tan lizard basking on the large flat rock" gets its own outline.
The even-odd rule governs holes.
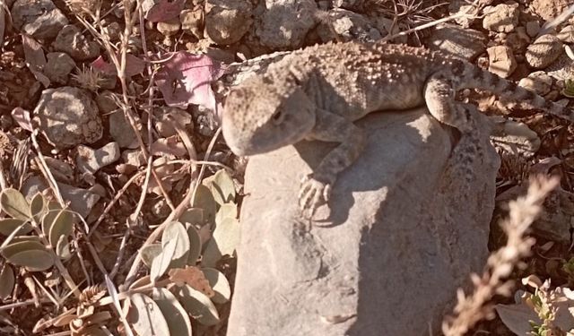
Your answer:
[[[351,41],[293,51],[231,88],[222,112],[222,134],[238,156],[301,140],[337,142],[301,181],[300,208],[312,216],[328,202],[337,175],[361,154],[366,136],[353,121],[375,111],[426,104],[440,123],[472,134],[470,112],[455,97],[465,88],[488,90],[526,103],[528,109],[574,119],[569,108],[442,52]]]

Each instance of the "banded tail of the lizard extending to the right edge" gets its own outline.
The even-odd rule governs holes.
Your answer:
[[[544,99],[544,97],[535,92],[517,86],[514,82],[485,71],[476,65],[462,61],[457,62],[459,63],[453,64],[453,72],[455,72],[455,74],[460,73],[454,76],[454,78],[457,78],[454,83],[457,90],[465,88],[487,90],[503,99],[516,101],[521,104],[521,107],[524,106],[526,109],[547,111],[552,115],[559,116],[570,122],[574,121],[574,115],[570,108]]]

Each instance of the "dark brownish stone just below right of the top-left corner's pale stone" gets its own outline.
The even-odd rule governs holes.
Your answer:
[[[100,56],[98,43],[83,36],[82,30],[74,24],[68,24],[60,30],[54,41],[54,48],[57,51],[64,51],[78,61]]]

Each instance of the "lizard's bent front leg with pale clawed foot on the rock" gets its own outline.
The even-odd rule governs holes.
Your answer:
[[[337,175],[352,165],[365,146],[363,130],[351,120],[320,108],[316,113],[315,127],[308,136],[309,140],[340,144],[327,153],[313,173],[303,178],[299,201],[307,218],[313,216],[318,206],[328,202]]]

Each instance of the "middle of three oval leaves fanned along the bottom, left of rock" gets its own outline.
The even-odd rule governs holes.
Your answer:
[[[170,336],[191,336],[191,322],[186,310],[168,289],[154,288],[153,301],[160,307],[170,328]]]

